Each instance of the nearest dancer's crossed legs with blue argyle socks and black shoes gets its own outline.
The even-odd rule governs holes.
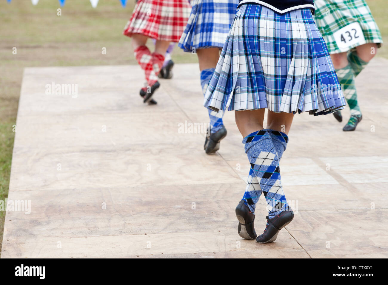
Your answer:
[[[252,239],[256,235],[253,228],[256,203],[263,192],[268,205],[267,225],[262,235],[256,238],[257,242],[273,242],[279,230],[291,222],[294,217],[292,210],[283,192],[279,168],[279,153],[286,149],[288,133],[293,114],[268,114],[268,128],[263,130],[264,110],[236,111],[236,124],[244,136],[244,149],[248,156],[251,169],[249,178],[256,183],[249,183],[244,197],[236,208],[239,219],[238,232],[241,237]],[[276,145],[276,147],[275,147]],[[256,186],[256,187],[255,187]],[[267,231],[268,230],[268,231]]]

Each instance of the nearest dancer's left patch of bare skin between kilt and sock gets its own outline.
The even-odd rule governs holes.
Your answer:
[[[234,111],[234,116],[243,138],[250,133],[263,130],[264,109]]]

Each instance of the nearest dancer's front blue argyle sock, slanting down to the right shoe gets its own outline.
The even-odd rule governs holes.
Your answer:
[[[269,131],[272,130],[261,130],[251,133],[242,142],[251,164],[252,174],[257,177],[260,188],[264,193],[265,200],[270,209],[268,216],[271,219],[285,209],[288,209],[288,203],[281,184],[279,158]],[[256,192],[245,192],[243,197],[243,200],[245,200],[252,212],[255,212],[255,204],[258,201],[258,196],[260,196],[256,195]]]

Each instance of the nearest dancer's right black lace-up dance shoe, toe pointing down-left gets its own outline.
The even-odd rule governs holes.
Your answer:
[[[289,208],[289,210],[283,211],[276,215],[274,218],[269,219],[269,214],[267,217],[267,225],[265,226],[264,232],[256,238],[256,242],[260,244],[268,244],[274,242],[277,238],[279,231],[291,223],[294,218],[294,212]]]

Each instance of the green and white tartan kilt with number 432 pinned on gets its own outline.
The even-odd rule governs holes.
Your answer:
[[[330,54],[348,52],[365,43],[381,47],[381,33],[365,0],[314,0],[314,4],[315,23]]]

